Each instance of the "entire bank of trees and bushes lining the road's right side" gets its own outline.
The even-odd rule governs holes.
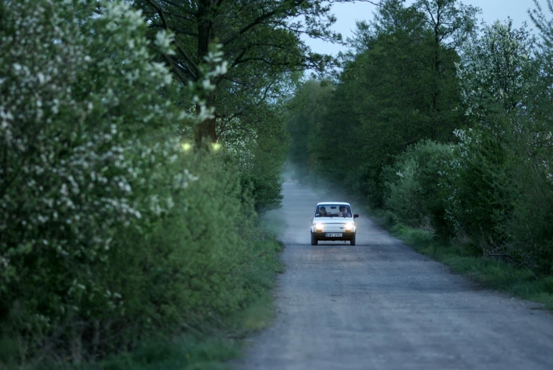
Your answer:
[[[553,15],[535,2],[539,41],[510,20],[477,32],[478,12],[385,1],[358,24],[339,79],[295,96],[290,160],[446,241],[435,248],[549,282]]]

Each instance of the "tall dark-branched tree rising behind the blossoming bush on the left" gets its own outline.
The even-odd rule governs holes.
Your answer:
[[[236,98],[271,100],[283,86],[283,76],[304,69],[323,69],[333,63],[326,55],[314,53],[300,35],[337,42],[341,35],[330,30],[336,21],[331,5],[351,0],[138,0],[152,28],[176,35],[175,55],[164,55],[182,83],[216,86],[205,96],[207,105],[220,108],[220,88],[227,110],[220,117],[235,117],[244,111]],[[368,0],[359,0],[368,1]],[[372,2],[372,1],[368,1]],[[374,4],[374,3],[373,3]],[[203,81],[201,64],[210,45],[222,45],[229,71],[214,81]],[[223,93],[225,92],[223,91]],[[240,102],[244,103],[244,102]],[[217,120],[202,122],[196,132],[198,143],[217,140]]]

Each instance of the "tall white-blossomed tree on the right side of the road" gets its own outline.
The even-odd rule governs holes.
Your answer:
[[[480,246],[504,243],[499,230],[509,212],[501,171],[509,166],[518,118],[535,83],[535,39],[525,25],[496,22],[464,45],[457,75],[462,108],[472,128],[457,129],[455,158],[440,185],[453,233],[468,234]],[[507,149],[507,150],[506,150]]]

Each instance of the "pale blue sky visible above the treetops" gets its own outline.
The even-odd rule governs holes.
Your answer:
[[[413,4],[413,0],[407,0],[406,5]],[[481,20],[491,24],[494,21],[505,21],[507,17],[513,19],[513,26],[520,28],[523,22],[527,22],[530,28],[534,28],[528,9],[534,8],[532,0],[461,0],[462,3],[481,8],[482,13],[479,15]],[[547,10],[547,0],[539,0],[545,13]],[[356,1],[355,3],[334,4],[333,13],[336,15],[337,21],[333,25],[333,30],[339,32],[343,36],[343,40],[352,35],[352,30],[355,30],[355,21],[365,21],[372,19],[372,13],[376,6],[370,3]],[[553,18],[553,14],[551,14]],[[304,39],[307,45],[312,47],[314,52],[322,54],[336,55],[338,52],[346,51],[346,47],[323,42],[321,40]]]

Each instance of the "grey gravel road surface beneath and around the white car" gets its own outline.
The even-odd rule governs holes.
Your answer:
[[[236,369],[553,369],[552,313],[479,289],[363,214],[355,247],[310,245],[309,220],[326,200],[284,184],[278,313]]]

